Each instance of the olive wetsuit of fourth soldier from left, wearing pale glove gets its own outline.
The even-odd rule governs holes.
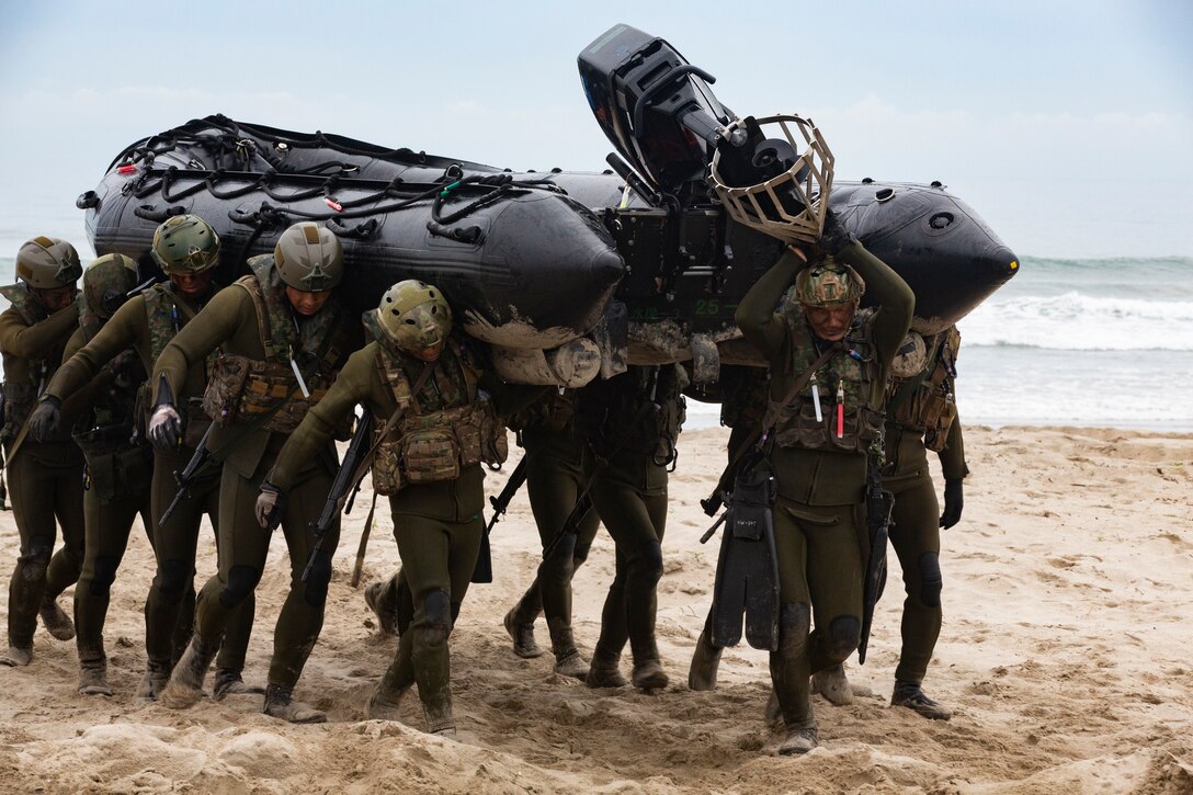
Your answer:
[[[272,260],[268,267],[272,267]],[[156,388],[159,375],[165,374],[172,394],[188,394],[184,384],[190,374],[194,368],[202,368],[216,349],[253,362],[265,360],[261,323],[270,326],[278,320],[285,325],[296,323],[301,329],[305,323],[319,322],[335,333],[346,329],[344,313],[334,296],[316,316],[291,314],[292,318],[284,319],[259,318],[247,288],[240,284],[224,288],[169,341],[154,365],[150,383]],[[320,363],[319,369],[322,366]],[[323,376],[334,377],[332,372]],[[310,372],[307,378],[310,381]],[[298,394],[297,384],[289,394]],[[194,611],[194,633],[208,648],[220,646],[237,608],[253,594],[261,579],[271,536],[256,522],[256,497],[261,481],[285,442],[285,433],[265,430],[243,418],[217,426],[211,432],[208,448],[214,458],[223,462],[217,523],[220,567],[199,591]],[[323,627],[327,586],[332,577],[329,550],[335,549],[340,534],[338,518],[328,531],[324,551],[305,583],[302,581],[302,573],[315,543],[309,525],[323,507],[335,469],[335,449],[330,444],[319,450],[317,455],[303,458],[295,479],[297,487],[282,517],[282,530],[290,551],[290,592],[274,629],[268,683],[286,690],[292,690],[298,682]]]

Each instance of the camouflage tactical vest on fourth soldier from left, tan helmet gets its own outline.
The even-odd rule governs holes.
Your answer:
[[[273,257],[248,260],[253,273],[236,281],[253,298],[264,359],[220,355],[203,394],[203,409],[217,425],[249,423],[268,414],[261,429],[290,433],[322,400],[344,356],[344,313],[330,298],[314,318],[295,320]],[[291,362],[302,370],[304,396]]]

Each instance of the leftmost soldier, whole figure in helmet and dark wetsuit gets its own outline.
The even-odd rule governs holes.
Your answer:
[[[75,282],[81,275],[74,246],[41,236],[17,253],[17,278],[24,284],[0,288],[12,303],[0,314],[5,374],[0,438],[20,534],[20,555],[8,583],[8,651],[0,655],[0,665],[29,665],[38,615],[57,640],[74,637],[57,598],[79,579],[82,567],[82,452],[70,439],[69,426],[37,442],[27,438],[26,420],[79,323]],[[74,403],[66,407],[72,415],[78,413]],[[51,559],[55,518],[63,544]]]

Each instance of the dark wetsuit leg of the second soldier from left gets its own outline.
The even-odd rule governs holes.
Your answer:
[[[74,597],[75,643],[79,648],[80,668],[107,667],[104,623],[112,583],[116,581],[116,571],[124,559],[137,514],[146,523],[144,526],[150,526],[148,501],[148,482],[143,491],[119,494],[109,503],[104,503],[95,489],[84,494],[87,543]]]

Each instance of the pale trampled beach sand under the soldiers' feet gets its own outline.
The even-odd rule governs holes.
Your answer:
[[[135,529],[106,630],[116,695],[76,695],[74,645],[39,629],[33,664],[0,668],[0,790],[1193,791],[1193,436],[968,427],[973,474],[964,518],[944,534],[945,628],[925,682],[954,717],[927,721],[888,707],[902,602],[894,574],[870,659],[849,664],[874,695],[849,707],[815,697],[822,745],[803,758],[773,756],[764,653],[728,649],[715,692],[685,685],[716,563],[715,544],[698,543],[709,522],[697,500],[718,473],[724,440],[722,429],[680,439],[659,586],[659,641],[672,676],[663,692],[594,691],[555,676],[550,655],[513,655],[501,616],[537,560],[519,495],[494,534],[496,581],[472,587],[452,636],[457,740],[424,734],[415,698],[402,722],[364,719],[396,640],[377,633],[348,586],[360,507],[346,520],[327,624],[297,692],[330,722],[282,723],[260,714],[260,697],[185,711],[137,704],[153,557]],[[492,477],[490,491],[502,482]],[[5,572],[16,550],[5,513]],[[215,560],[208,530],[200,555],[205,577]],[[365,581],[396,566],[384,517]],[[612,568],[602,532],[575,580],[586,653]],[[286,579],[278,537],[258,590],[252,682],[265,678]],[[546,645],[542,624],[538,637]]]

